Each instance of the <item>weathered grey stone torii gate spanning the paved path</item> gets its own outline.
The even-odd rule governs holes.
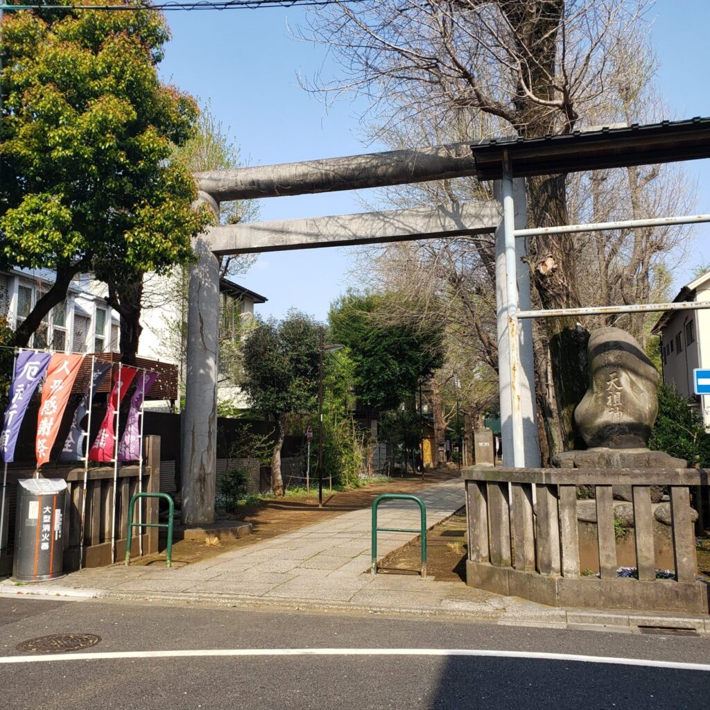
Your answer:
[[[219,214],[219,202],[261,197],[303,195],[364,187],[403,185],[474,175],[471,144],[437,146],[421,150],[391,151],[327,158],[303,163],[198,173],[198,201]],[[497,193],[502,195],[500,184]],[[510,180],[518,226],[525,226],[522,180]],[[498,194],[496,197],[498,197]],[[182,412],[182,522],[204,525],[214,521],[214,481],[217,463],[217,352],[219,327],[219,270],[217,257],[226,254],[309,249],[322,246],[376,244],[391,241],[442,239],[496,233],[496,298],[498,346],[501,361],[507,355],[506,253],[503,245],[500,200],[439,207],[389,210],[335,217],[282,220],[213,226],[195,241],[198,261],[190,268],[187,312],[187,371],[185,409]],[[528,269],[520,258],[523,243],[513,258],[520,305],[530,307]],[[508,255],[510,257],[510,255]],[[515,280],[513,283],[515,283]],[[520,405],[530,465],[539,463],[534,389],[532,387],[532,326],[521,333],[523,372]],[[510,439],[510,380],[501,369],[501,419],[504,440]]]

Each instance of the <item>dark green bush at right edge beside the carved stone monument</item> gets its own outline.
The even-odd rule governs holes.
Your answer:
[[[691,400],[679,395],[674,386],[658,387],[658,416],[648,442],[650,449],[663,451],[689,466],[710,466],[710,434],[703,427]]]

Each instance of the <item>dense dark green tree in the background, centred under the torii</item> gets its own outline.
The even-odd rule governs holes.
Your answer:
[[[356,395],[376,412],[409,400],[420,378],[442,366],[443,330],[435,322],[386,324],[374,315],[387,310],[392,294],[348,294],[330,309],[330,337],[349,348]]]

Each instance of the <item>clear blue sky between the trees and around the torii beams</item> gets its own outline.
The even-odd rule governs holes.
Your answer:
[[[710,1],[659,0],[652,11],[660,85],[672,118],[710,116],[707,61]],[[298,85],[322,67],[321,47],[295,40],[298,9],[170,12],[173,40],[162,74],[202,100],[231,129],[250,165],[287,163],[376,151],[359,135],[361,107],[339,102],[326,110]],[[699,183],[695,212],[710,212],[710,160],[686,163]],[[261,219],[361,212],[352,192],[261,201]],[[268,297],[258,308],[281,317],[290,307],[324,319],[348,285],[350,249],[309,249],[261,256],[240,283]],[[698,263],[710,261],[710,226],[701,226],[687,262],[675,273],[679,287]],[[590,304],[591,305],[591,304]]]

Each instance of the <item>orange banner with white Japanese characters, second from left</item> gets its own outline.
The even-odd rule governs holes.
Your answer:
[[[62,423],[62,415],[67,408],[67,401],[83,359],[83,355],[55,353],[49,361],[37,415],[35,454],[38,468],[49,461],[59,425]]]

